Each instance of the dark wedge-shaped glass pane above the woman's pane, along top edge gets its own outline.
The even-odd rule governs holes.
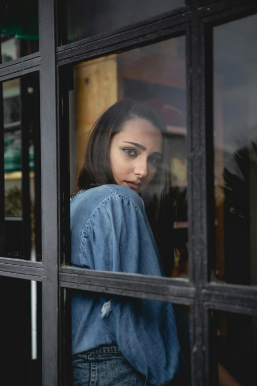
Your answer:
[[[67,0],[67,37],[64,35],[63,44],[115,31],[183,5],[184,0]]]

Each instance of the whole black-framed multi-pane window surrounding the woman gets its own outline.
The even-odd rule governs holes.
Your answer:
[[[157,8],[138,1],[129,12],[117,6],[116,18],[112,1],[105,10],[106,4],[96,7],[90,1],[38,0],[38,8],[32,2],[21,9],[5,1],[0,10],[0,305],[6,310],[0,323],[3,370],[6,374],[11,358],[13,371],[9,385],[20,379],[28,386],[41,380],[47,386],[71,384],[72,291],[187,307],[192,384],[217,385],[220,361],[242,385],[251,385],[250,380],[254,385],[256,1],[160,1]],[[108,69],[99,101],[94,69],[99,79]],[[77,188],[83,147],[78,134],[111,103],[127,97],[153,100],[156,94],[172,105],[175,193],[170,199],[181,243],[175,276],[71,266],[69,197]],[[88,122],[83,98],[92,114]],[[14,162],[8,161],[11,154]],[[12,182],[8,176],[14,174],[20,179]],[[11,183],[27,192],[25,206],[17,209],[6,200]],[[18,231],[14,218],[20,218]],[[27,240],[26,251],[16,248],[20,235]],[[16,336],[17,350],[10,346]],[[242,365],[245,378],[236,374],[238,358],[230,355],[238,353],[233,352],[235,336],[253,365],[253,372]],[[22,349],[17,380],[14,353]]]

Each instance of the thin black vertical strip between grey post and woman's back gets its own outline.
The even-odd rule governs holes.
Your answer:
[[[73,67],[72,67],[73,75]],[[59,68],[58,71],[58,135],[59,135],[59,163],[60,170],[60,259],[61,264],[70,263],[70,211],[69,211],[69,99],[68,99],[68,71]],[[60,130],[62,128],[62,130]],[[60,304],[60,383],[72,384],[71,372],[71,301],[66,289],[59,289]]]

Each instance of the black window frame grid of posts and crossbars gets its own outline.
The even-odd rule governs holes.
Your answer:
[[[209,310],[257,315],[257,287],[210,281],[214,268],[212,29],[257,14],[256,0],[191,0],[185,7],[64,46],[61,0],[38,0],[39,52],[0,64],[2,82],[39,72],[42,262],[0,257],[0,276],[42,282],[42,385],[69,385],[64,351],[64,295],[71,289],[143,297],[190,306],[192,385],[213,385]],[[75,63],[186,35],[189,280],[87,271],[69,255],[68,73]],[[0,92],[0,256],[4,240],[3,111]],[[208,130],[207,130],[208,127]],[[1,151],[2,150],[2,151]],[[62,161],[62,162],[61,162]],[[208,173],[207,173],[208,172]],[[65,221],[64,221],[65,220]],[[67,260],[67,258],[66,258]],[[65,346],[66,345],[66,346]],[[207,353],[207,354],[206,354]],[[68,370],[67,370],[68,372]]]

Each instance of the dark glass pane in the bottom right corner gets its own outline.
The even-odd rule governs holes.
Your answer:
[[[215,351],[222,366],[219,378],[233,377],[242,386],[257,385],[257,317],[212,311],[211,322]],[[232,380],[227,384],[234,385]]]

